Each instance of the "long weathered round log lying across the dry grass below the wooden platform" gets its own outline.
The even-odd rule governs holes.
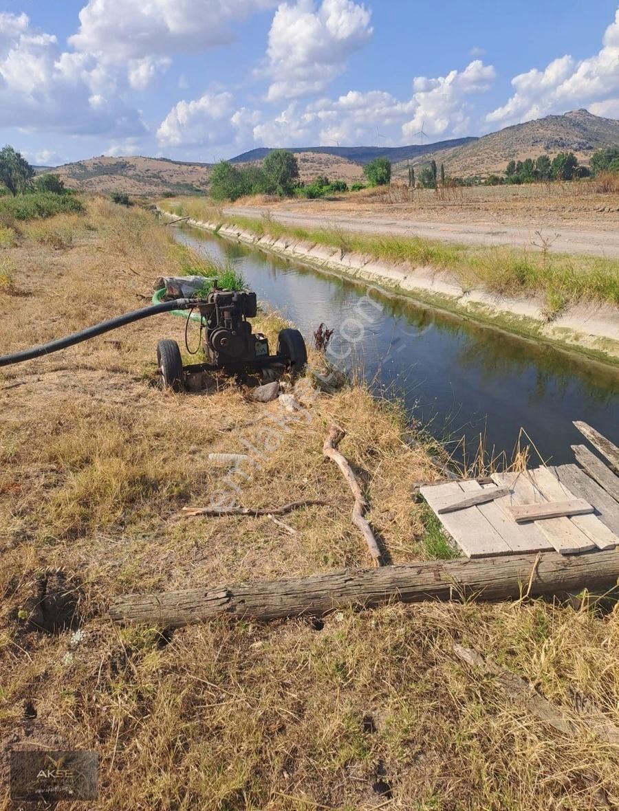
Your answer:
[[[127,594],[110,608],[118,622],[144,622],[168,628],[217,616],[277,620],[322,616],[336,608],[372,608],[385,603],[420,603],[430,599],[518,599],[528,593],[557,594],[584,588],[604,590],[619,579],[619,551],[565,557],[557,552],[484,559],[428,560],[288,577],[284,580],[229,586]],[[528,587],[527,587],[528,584]]]

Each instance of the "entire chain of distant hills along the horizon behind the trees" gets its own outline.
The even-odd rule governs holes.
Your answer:
[[[434,160],[445,164],[452,177],[502,173],[512,159],[523,161],[541,154],[574,152],[587,162],[595,149],[619,145],[619,121],[600,118],[586,109],[564,115],[548,115],[536,121],[505,127],[482,138],[457,138],[436,144],[404,147],[294,147],[303,181],[326,174],[346,182],[363,180],[363,165],[385,156],[393,162],[393,177],[406,178],[409,163],[415,167]],[[270,148],[251,149],[231,158],[236,164],[260,164]],[[109,194],[127,191],[133,195],[204,194],[212,164],[171,161],[153,157],[92,157],[56,167],[37,167],[38,172],[59,174],[68,187]]]

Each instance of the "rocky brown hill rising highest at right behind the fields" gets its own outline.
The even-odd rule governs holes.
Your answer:
[[[619,145],[619,121],[575,109],[505,127],[462,147],[428,152],[411,163],[420,167],[434,160],[445,164],[446,173],[452,177],[470,177],[500,174],[508,161],[524,161],[543,154],[553,156],[557,152],[574,152],[579,161],[587,163],[596,149],[613,145]],[[393,174],[403,178],[406,170],[406,162],[399,161]]]

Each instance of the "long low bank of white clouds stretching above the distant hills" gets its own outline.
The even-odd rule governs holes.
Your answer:
[[[157,137],[167,147],[227,144],[247,149],[256,144],[334,146],[379,141],[392,146],[410,143],[422,123],[430,136],[459,135],[469,123],[466,97],[488,90],[493,77],[491,65],[475,61],[445,77],[413,79],[411,97],[403,101],[382,90],[350,90],[337,99],[321,98],[306,105],[291,101],[271,117],[247,108],[232,113],[230,93],[212,90],[196,101],[178,102],[161,123]]]

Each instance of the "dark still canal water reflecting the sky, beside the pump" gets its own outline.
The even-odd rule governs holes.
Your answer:
[[[320,322],[334,328],[329,358],[404,401],[458,461],[472,460],[480,436],[489,455],[505,453],[508,461],[519,438],[549,464],[574,461],[570,444],[584,441],[574,419],[619,444],[619,372],[612,368],[208,231],[175,233],[195,251],[234,264],[263,306],[293,321],[308,343]]]

